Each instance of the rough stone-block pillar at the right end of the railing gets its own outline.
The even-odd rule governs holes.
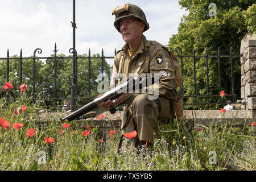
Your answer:
[[[243,110],[251,110],[256,117],[256,34],[246,34],[242,39],[241,57],[241,98]]]

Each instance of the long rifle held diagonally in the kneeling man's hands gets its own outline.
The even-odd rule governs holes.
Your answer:
[[[129,77],[127,81],[123,82],[122,84],[116,86],[115,88],[109,90],[106,92],[103,96],[95,98],[92,102],[89,104],[86,104],[85,106],[82,106],[80,109],[76,110],[75,112],[67,115],[64,118],[60,118],[61,121],[65,121],[67,119],[68,121],[72,121],[73,119],[81,118],[82,115],[88,113],[89,111],[92,111],[93,109],[97,109],[98,104],[101,102],[105,102],[107,100],[115,100],[119,96],[121,96],[123,93],[128,93],[127,91],[134,90],[135,84],[139,84],[139,89],[142,88],[142,86],[150,86],[152,82],[154,82],[154,77],[143,77],[141,80],[139,80],[140,77]],[[148,78],[151,78],[151,81],[148,80]],[[149,84],[149,85],[148,85]],[[115,113],[114,107],[109,108],[107,110],[110,110],[111,114]],[[106,110],[104,110],[106,111]],[[94,114],[88,114],[88,117],[94,117],[96,116]]]

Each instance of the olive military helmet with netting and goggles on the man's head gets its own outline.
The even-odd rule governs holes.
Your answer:
[[[114,26],[117,28],[117,31],[121,33],[120,27],[119,27],[119,21],[123,18],[133,17],[141,20],[145,23],[144,31],[148,30],[149,24],[147,23],[146,16],[141,8],[139,8],[136,5],[130,5],[129,3],[126,3],[125,5],[116,7],[112,15],[115,15],[115,22]]]

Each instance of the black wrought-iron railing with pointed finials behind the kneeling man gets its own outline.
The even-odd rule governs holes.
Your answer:
[[[54,74],[54,77],[53,77],[53,85],[51,86],[51,88],[53,89],[53,92],[51,94],[51,96],[49,97],[49,100],[53,100],[54,104],[53,106],[57,106],[57,100],[72,100],[73,103],[76,103],[77,101],[77,60],[78,59],[88,59],[88,97],[86,98],[81,98],[80,99],[86,99],[88,101],[91,101],[93,98],[91,97],[91,83],[90,83],[90,80],[91,80],[91,63],[92,63],[92,59],[101,59],[101,73],[104,73],[104,59],[114,59],[114,56],[104,56],[104,51],[102,49],[102,52],[101,52],[101,56],[91,56],[91,53],[90,53],[90,49],[89,49],[89,52],[88,52],[88,56],[77,56],[77,52],[75,51],[74,48],[71,48],[69,49],[69,53],[71,53],[73,56],[66,56],[66,57],[61,57],[61,56],[57,56],[57,47],[56,47],[56,44],[55,44],[55,48],[53,50],[54,52],[54,56],[51,56],[51,57],[38,57],[36,55],[36,53],[42,53],[42,49],[40,48],[36,48],[35,51],[34,51],[34,54],[32,57],[23,57],[22,56],[22,50],[20,50],[20,56],[19,57],[10,57],[9,56],[9,50],[7,50],[7,56],[6,57],[0,57],[0,60],[6,60],[6,82],[9,82],[11,80],[9,80],[9,69],[10,69],[10,66],[9,66],[9,63],[10,63],[10,60],[19,60],[19,81],[20,81],[20,84],[22,84],[23,82],[23,60],[25,59],[30,59],[32,60],[32,99],[35,100],[35,97],[36,97],[36,93],[38,92],[40,86],[42,86],[44,83],[44,81],[47,80],[47,78],[49,77],[49,75],[51,75],[52,73]],[[181,70],[181,74],[183,75],[183,59],[184,58],[192,58],[193,59],[193,81],[194,81],[194,94],[193,95],[184,95],[184,85],[183,83],[181,84],[181,89],[180,89],[180,92],[181,92],[181,95],[183,95],[185,98],[188,98],[188,97],[193,97],[194,98],[194,102],[193,103],[187,103],[187,102],[184,102],[184,105],[205,105],[205,104],[225,104],[223,101],[222,101],[222,98],[219,97],[218,94],[213,94],[213,95],[210,95],[209,94],[209,69],[208,69],[208,59],[210,57],[216,57],[218,58],[218,82],[219,82],[219,91],[222,90],[222,86],[221,86],[221,64],[220,64],[220,59],[221,57],[229,57],[230,58],[230,70],[231,70],[231,82],[232,82],[232,93],[231,94],[227,94],[226,96],[230,96],[232,97],[232,102],[235,103],[235,98],[237,96],[237,93],[234,93],[234,83],[233,83],[233,57],[241,57],[242,55],[233,55],[232,54],[232,48],[230,48],[230,55],[220,55],[220,48],[218,48],[218,55],[208,55],[208,50],[206,49],[206,52],[205,52],[205,55],[203,56],[197,56],[195,55],[195,49],[193,49],[193,55],[183,55],[183,52],[181,50],[181,48],[177,47],[175,49],[175,51],[177,52],[177,58],[178,60],[180,60],[180,70]],[[114,51],[114,54],[116,55],[117,51],[115,50]],[[206,95],[199,95],[197,93],[197,85],[196,85],[196,58],[200,58],[200,57],[204,57],[205,58],[205,69],[206,69],[206,77],[207,77],[207,94]],[[46,63],[47,64],[53,64],[52,65],[52,68],[51,68],[51,71],[49,71],[49,73],[45,73],[45,76],[42,77],[40,76],[42,79],[36,83],[36,77],[39,77],[38,75],[36,75],[36,60],[39,60],[39,59],[44,59],[46,60]],[[68,77],[65,77],[63,75],[63,73],[61,72],[61,70],[59,69],[58,67],[58,63],[62,63],[64,64],[65,60],[71,60],[73,59],[73,70],[72,70],[72,73],[68,76]],[[57,76],[61,76],[64,78],[65,80],[65,83],[64,82],[61,82],[61,83],[57,83]],[[2,83],[4,84],[4,83]],[[70,86],[70,90],[68,90],[67,88],[61,88],[60,85],[63,85],[63,84],[68,84]],[[66,94],[65,96],[60,96],[60,94],[57,92],[57,90],[65,90],[66,93],[71,93],[71,94]],[[44,90],[45,91],[45,90]],[[71,98],[68,98],[67,96],[68,95],[71,95]],[[203,102],[203,103],[200,103],[200,102],[197,102],[197,98],[200,98],[200,97],[207,97],[207,102]],[[220,100],[219,102],[209,102],[209,98],[210,97],[219,97]],[[75,108],[75,104],[73,104],[73,109],[76,109]]]

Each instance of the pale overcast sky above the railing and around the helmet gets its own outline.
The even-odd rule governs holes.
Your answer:
[[[141,7],[146,14],[150,29],[144,32],[148,40],[167,45],[172,34],[177,34],[180,19],[187,12],[174,0],[76,0],[76,49],[78,54],[101,53],[114,56],[114,49],[120,49],[125,42],[114,28],[112,10],[116,6],[131,3]],[[31,56],[36,48],[49,56],[54,44],[57,53],[70,55],[72,48],[73,0],[1,0],[0,1],[0,57]],[[109,64],[113,60],[107,59]]]

